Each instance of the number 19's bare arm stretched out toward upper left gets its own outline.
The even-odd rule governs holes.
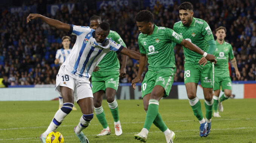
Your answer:
[[[27,23],[29,23],[29,21],[36,19],[36,18],[40,18],[41,20],[43,20],[43,22],[47,23],[49,26],[69,32],[69,29],[70,29],[69,24],[63,23],[59,20],[54,20],[54,19],[45,17],[40,14],[29,14],[27,17]]]

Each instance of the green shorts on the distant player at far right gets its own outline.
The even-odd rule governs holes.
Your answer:
[[[214,77],[213,90],[224,89],[232,90],[232,82],[230,77]]]

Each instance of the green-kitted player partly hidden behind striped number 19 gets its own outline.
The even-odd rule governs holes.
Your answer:
[[[90,18],[91,29],[96,29],[100,23],[102,23],[102,21],[99,16],[93,16]],[[110,30],[108,38],[112,38],[112,40],[116,41],[117,44],[126,47],[123,39],[116,32]],[[103,126],[103,130],[97,136],[109,135],[111,133],[106,121],[104,110],[102,108],[102,99],[105,93],[108,107],[114,118],[115,134],[122,134],[115,96],[116,90],[119,86],[119,77],[123,77],[123,75],[126,74],[126,60],[127,56],[122,55],[122,67],[120,68],[116,52],[110,51],[103,57],[91,76],[91,85],[94,97],[94,111],[97,119]]]

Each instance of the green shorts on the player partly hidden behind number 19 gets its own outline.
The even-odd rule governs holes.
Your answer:
[[[106,88],[113,88],[117,90],[119,85],[119,72],[96,72],[91,77],[91,85],[93,93],[99,90],[106,90]]]

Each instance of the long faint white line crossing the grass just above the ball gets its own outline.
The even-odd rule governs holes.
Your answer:
[[[222,121],[222,120],[244,120],[244,119],[214,119],[214,121]],[[246,120],[251,120],[251,119],[246,119]],[[255,120],[255,119],[253,119]],[[191,122],[195,120],[167,120],[164,122]],[[144,123],[144,122],[122,122],[122,124],[130,124],[130,123]],[[114,124],[114,123],[108,123],[108,124]],[[101,125],[99,123],[92,124],[92,125]],[[61,126],[76,126],[76,125],[61,125]],[[37,128],[48,128],[48,126],[35,126],[35,127],[22,127],[22,128],[5,128],[5,129],[0,129],[0,131],[6,131],[6,130],[14,130],[14,129],[37,129]]]

